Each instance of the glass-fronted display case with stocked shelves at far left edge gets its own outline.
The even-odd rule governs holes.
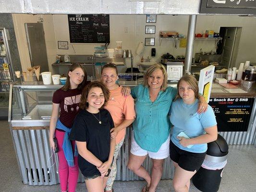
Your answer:
[[[7,34],[5,28],[0,28],[0,120],[7,120],[10,84],[13,83]]]

